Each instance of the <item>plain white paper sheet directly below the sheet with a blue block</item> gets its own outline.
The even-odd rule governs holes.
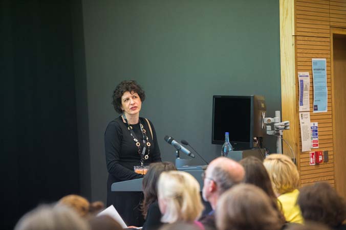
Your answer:
[[[301,151],[311,150],[311,122],[310,112],[299,112]]]

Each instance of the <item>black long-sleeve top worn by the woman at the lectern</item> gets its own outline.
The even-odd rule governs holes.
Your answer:
[[[146,130],[146,135],[151,144],[148,155],[149,158],[145,160],[144,164],[149,165],[153,162],[161,162],[160,148],[157,142],[154,125],[149,121],[153,130],[152,138],[146,120],[144,118],[139,119]],[[141,143],[140,150],[142,152],[143,142],[139,123],[131,126],[133,127],[138,141]],[[136,142],[134,142],[133,137],[127,129],[127,124],[123,122],[121,116],[108,124],[104,133],[104,146],[107,171],[110,174],[108,181],[109,187],[110,184],[114,182],[143,177],[141,174],[134,172],[134,166],[140,166],[141,157],[138,153]],[[146,153],[147,152],[148,147],[146,147]]]

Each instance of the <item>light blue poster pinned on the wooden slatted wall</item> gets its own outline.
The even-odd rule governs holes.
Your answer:
[[[312,59],[312,76],[314,82],[313,112],[327,112],[327,64],[326,58]]]

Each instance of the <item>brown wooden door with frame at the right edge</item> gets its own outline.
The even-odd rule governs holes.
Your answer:
[[[346,7],[344,9],[346,10]],[[332,28],[331,40],[335,182],[338,193],[346,198],[346,29]]]

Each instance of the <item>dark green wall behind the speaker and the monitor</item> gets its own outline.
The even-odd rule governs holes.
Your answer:
[[[175,158],[166,134],[188,140],[207,160],[221,154],[211,144],[213,95],[263,95],[269,116],[281,109],[278,1],[83,0],[82,6],[93,199],[105,198],[103,133],[116,116],[112,90],[124,79],[146,91],[141,116],[153,121],[164,160]],[[273,140],[267,147],[274,151]]]

